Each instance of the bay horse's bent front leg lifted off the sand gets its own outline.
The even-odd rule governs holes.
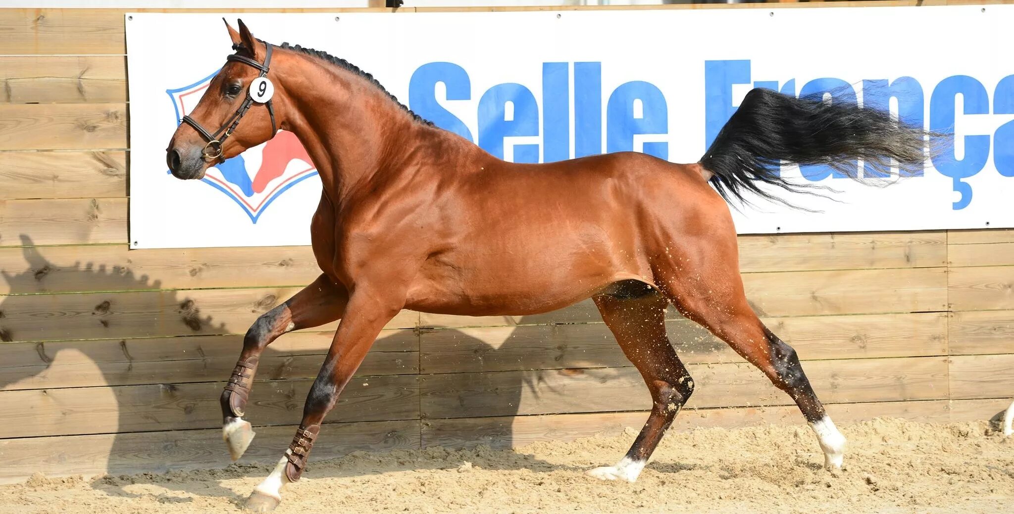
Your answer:
[[[246,331],[239,360],[220,398],[222,439],[229,447],[232,460],[241,457],[254,440],[255,432],[242,417],[246,414],[246,400],[264,349],[287,332],[317,326],[342,317],[347,301],[345,287],[320,275],[285,303],[262,314]]]

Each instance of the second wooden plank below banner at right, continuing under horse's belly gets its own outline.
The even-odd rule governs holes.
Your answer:
[[[746,297],[760,316],[937,312],[947,310],[944,268],[743,274]],[[681,316],[671,306],[666,319]],[[591,300],[528,316],[422,313],[423,327],[512,326],[601,321]]]

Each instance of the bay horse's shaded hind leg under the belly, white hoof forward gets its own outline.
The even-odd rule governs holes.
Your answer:
[[[668,300],[639,283],[640,297],[594,297],[627,358],[637,366],[651,391],[652,409],[627,455],[615,465],[596,467],[588,474],[601,480],[637,480],[679,409],[694,392],[694,380],[665,336]]]

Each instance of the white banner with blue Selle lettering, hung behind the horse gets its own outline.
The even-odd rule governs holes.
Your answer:
[[[516,162],[619,150],[696,162],[752,87],[848,101],[886,87],[903,119],[952,131],[953,153],[922,175],[880,178],[887,187],[786,166],[841,193],[783,195],[816,214],[734,208],[739,233],[1014,227],[1014,5],[130,13],[133,247],[309,244],[320,180],[291,133],[203,180],[166,169],[179,119],[232,52],[223,16],[347,59],[420,116]]]

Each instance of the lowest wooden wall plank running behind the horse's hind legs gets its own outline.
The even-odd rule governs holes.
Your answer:
[[[950,420],[948,403],[946,399],[838,403],[827,406],[827,413],[839,426],[880,417],[946,423]],[[642,411],[428,420],[423,423],[422,444],[423,447],[445,448],[468,448],[480,444],[497,449],[516,448],[538,441],[619,436],[625,432],[640,431],[647,419],[647,412]],[[684,409],[676,416],[670,433],[758,425],[805,427],[806,422],[795,406]],[[631,437],[632,443],[633,439]]]

